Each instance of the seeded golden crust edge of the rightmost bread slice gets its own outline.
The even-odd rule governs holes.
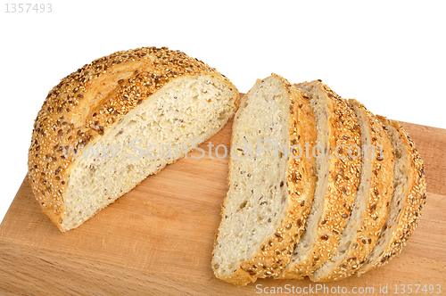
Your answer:
[[[405,191],[407,192],[407,196],[398,217],[398,224],[391,233],[392,238],[387,244],[384,253],[373,260],[368,258],[366,263],[359,268],[358,276],[368,272],[372,268],[386,264],[389,259],[392,259],[401,252],[402,247],[406,245],[409,237],[417,227],[426,198],[425,169],[423,167],[423,160],[421,160],[415,144],[398,121],[386,119],[379,115],[377,118],[383,123],[384,128],[388,129],[393,127],[399,132],[400,140],[406,146],[409,153],[409,163],[407,163],[409,178],[405,186],[407,188],[407,191]],[[387,227],[387,223],[384,224],[384,227]],[[380,237],[379,239],[381,240],[382,238]]]

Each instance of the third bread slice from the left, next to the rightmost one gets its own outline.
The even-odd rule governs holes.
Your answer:
[[[361,131],[359,187],[335,255],[310,275],[317,282],[341,280],[364,263],[381,233],[392,199],[394,153],[390,138],[363,104],[349,100],[349,105]]]

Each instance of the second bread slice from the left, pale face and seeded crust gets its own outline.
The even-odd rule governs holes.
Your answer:
[[[303,278],[335,254],[349,221],[360,173],[358,120],[347,103],[321,81],[297,85],[310,97],[318,128],[318,181],[309,218],[291,262],[277,278]],[[343,146],[341,146],[343,145]]]

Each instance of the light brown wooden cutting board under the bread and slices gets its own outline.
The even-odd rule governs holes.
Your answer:
[[[25,177],[0,226],[0,294],[382,295],[386,287],[388,294],[411,289],[446,295],[446,130],[401,124],[425,160],[427,201],[402,253],[366,275],[319,285],[261,279],[245,287],[215,278],[211,251],[227,192],[228,158],[213,153],[213,159],[206,154],[178,160],[67,233],[42,213]],[[229,121],[211,138],[214,149],[229,146],[231,127]],[[201,146],[206,151],[207,144]]]

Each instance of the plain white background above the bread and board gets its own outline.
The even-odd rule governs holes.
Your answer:
[[[33,122],[48,91],[119,50],[178,49],[243,93],[271,72],[296,83],[320,78],[373,112],[446,128],[441,1],[45,0],[53,12],[5,12],[12,3],[20,2],[0,6],[0,219],[27,173]]]

